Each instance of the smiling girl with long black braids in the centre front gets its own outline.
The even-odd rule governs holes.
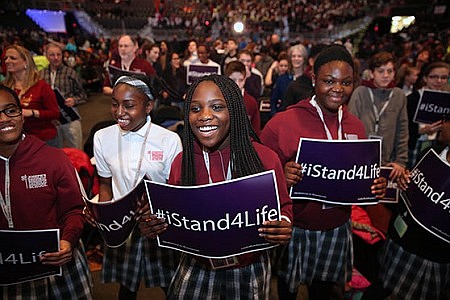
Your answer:
[[[283,169],[277,155],[259,142],[238,86],[225,76],[202,77],[188,89],[185,111],[184,150],[172,164],[169,183],[201,185],[273,169],[282,220],[265,222],[259,232],[269,242],[288,242],[292,205]],[[155,216],[151,219],[141,230],[155,238],[168,225]],[[214,269],[209,259],[183,253],[168,299],[268,299],[268,251],[238,255],[235,261]]]

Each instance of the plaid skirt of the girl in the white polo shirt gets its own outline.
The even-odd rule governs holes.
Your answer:
[[[144,278],[146,287],[168,287],[178,266],[179,254],[158,246],[135,228],[125,244],[105,246],[102,282],[119,282],[135,292]]]

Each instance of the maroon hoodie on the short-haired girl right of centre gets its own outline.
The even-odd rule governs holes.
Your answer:
[[[309,101],[310,99],[300,101],[289,106],[286,111],[276,114],[261,132],[261,141],[278,154],[283,166],[289,161],[295,161],[300,138],[327,139],[322,121]],[[337,139],[337,114],[326,111],[323,113],[333,139]],[[366,137],[361,121],[350,114],[345,106],[342,130],[344,137],[349,134],[358,139]],[[339,227],[349,220],[350,212],[350,206],[337,205],[323,209],[321,202],[293,201],[294,225],[308,230],[330,230]]]

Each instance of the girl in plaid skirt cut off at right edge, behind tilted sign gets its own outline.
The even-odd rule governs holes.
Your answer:
[[[443,117],[437,142],[433,149],[450,166],[449,115]],[[422,154],[427,152],[428,149]],[[449,178],[449,175],[442,176]],[[405,190],[406,186],[402,185],[402,188]],[[442,206],[442,209],[446,208]],[[390,296],[395,299],[450,299],[450,244],[416,222],[403,201],[399,202],[391,220],[389,237],[380,256],[378,281],[366,290],[362,299],[390,299]]]

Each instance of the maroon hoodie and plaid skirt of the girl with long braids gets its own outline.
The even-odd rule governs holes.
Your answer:
[[[277,155],[257,142],[253,146],[265,170],[275,170],[282,218],[291,220],[292,206],[287,194],[282,166]],[[230,148],[210,152],[210,174],[203,151],[194,143],[194,162],[197,184],[226,180]],[[182,155],[172,165],[169,183],[181,185]],[[271,266],[267,250],[238,255],[239,264],[225,269],[212,269],[209,260],[182,254],[180,264],[170,285],[168,299],[268,299]]]

